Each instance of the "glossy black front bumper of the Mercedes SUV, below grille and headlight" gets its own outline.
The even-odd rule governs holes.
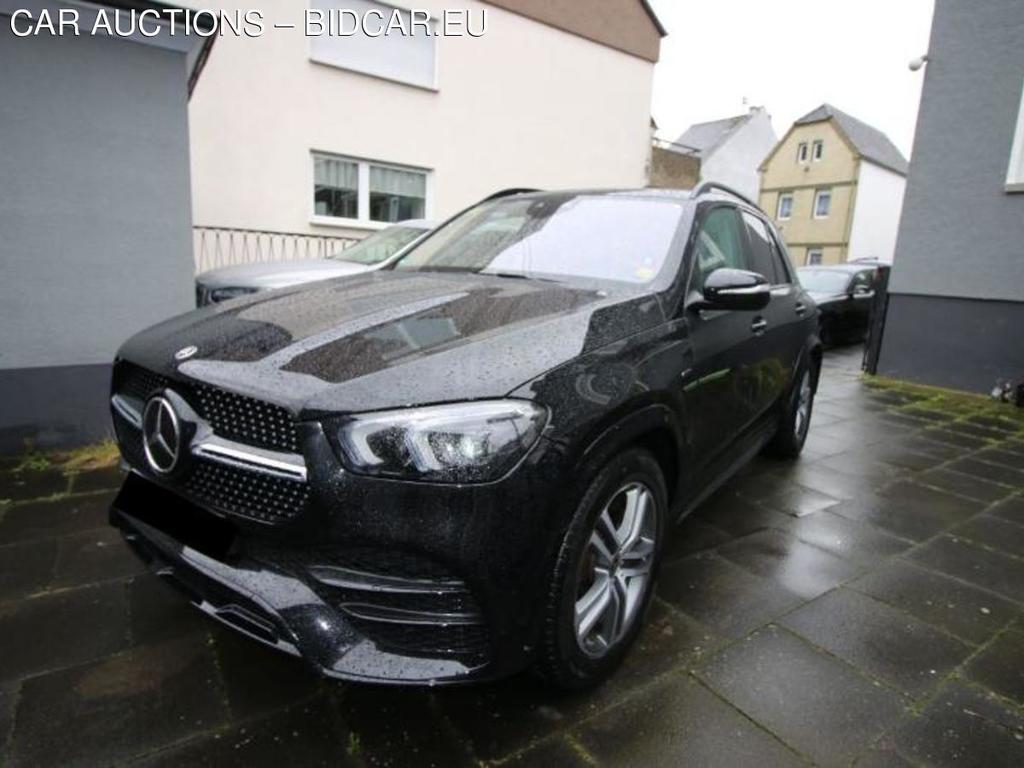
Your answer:
[[[407,485],[387,484],[392,494],[396,485]],[[428,490],[419,486],[412,493]],[[489,510],[487,517],[509,513],[499,501],[508,501],[508,492],[501,485],[450,488],[442,499],[432,499],[433,509],[423,504],[417,517],[425,522],[446,508],[446,532],[462,538],[469,531],[460,536],[453,523],[464,515],[479,519],[473,512],[480,507]],[[413,512],[401,504],[412,501],[408,496],[395,501],[394,516]],[[296,525],[254,529],[132,472],[112,505],[111,522],[153,572],[205,613],[300,656],[324,675],[433,685],[497,678],[529,663],[537,585],[546,571],[544,545],[536,539],[528,543],[537,560],[530,575],[512,567],[521,562],[521,545],[527,542],[506,537],[502,546],[500,532],[488,542],[498,547],[495,551],[459,548],[443,567],[435,567],[442,562],[440,552],[453,549],[451,538],[438,537],[436,526],[420,529],[416,538],[423,546],[413,548],[408,524],[388,524],[366,509],[359,514],[348,504],[343,507],[328,515],[334,525],[325,524],[321,515],[327,510],[321,507],[307,510]],[[539,512],[537,507],[534,514],[519,510],[518,524],[536,531],[528,520]],[[362,536],[353,536],[353,514],[364,518]],[[319,524],[312,525],[317,517]],[[348,535],[340,531],[339,518],[347,518]],[[353,539],[369,543],[354,561]],[[463,539],[463,544],[468,542]],[[399,552],[407,553],[400,562]],[[519,577],[512,579],[516,570]]]

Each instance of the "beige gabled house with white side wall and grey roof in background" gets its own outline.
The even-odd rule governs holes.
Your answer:
[[[761,164],[761,208],[798,265],[891,262],[907,162],[882,131],[822,104]]]

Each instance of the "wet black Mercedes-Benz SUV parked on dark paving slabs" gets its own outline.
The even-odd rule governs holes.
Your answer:
[[[816,328],[724,187],[488,199],[388,270],[130,339],[112,522],[324,674],[583,688],[639,631],[670,525],[800,453]]]

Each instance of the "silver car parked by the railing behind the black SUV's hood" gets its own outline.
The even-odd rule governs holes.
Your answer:
[[[433,229],[426,219],[409,219],[374,232],[326,259],[236,264],[196,276],[196,306],[214,304],[257,291],[379,269],[414,241]]]

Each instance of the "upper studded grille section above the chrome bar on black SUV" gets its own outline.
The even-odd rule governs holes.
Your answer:
[[[213,431],[247,445],[299,453],[299,435],[292,415],[281,406],[228,392],[199,382],[171,381],[144,368],[121,362],[115,373],[115,391],[144,402],[170,387],[196,409]]]

